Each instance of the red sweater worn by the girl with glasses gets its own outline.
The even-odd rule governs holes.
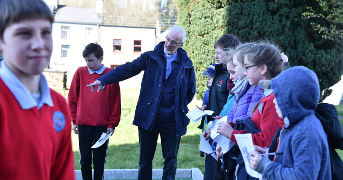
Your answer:
[[[273,103],[274,94],[264,98],[265,99],[261,100],[261,103],[259,104],[259,107],[262,106],[262,108],[260,110],[257,109],[251,117],[254,124],[261,130],[261,132],[257,134],[252,134],[252,142],[254,145],[269,147],[277,129],[279,128],[279,122],[277,122],[279,115],[277,115],[275,105]],[[242,133],[247,133],[247,131],[234,130],[230,138],[231,141],[235,142],[237,145],[234,134]]]

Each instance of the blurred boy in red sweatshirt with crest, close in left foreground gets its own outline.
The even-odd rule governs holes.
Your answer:
[[[42,74],[53,22],[42,0],[0,1],[1,180],[74,180],[66,100]]]

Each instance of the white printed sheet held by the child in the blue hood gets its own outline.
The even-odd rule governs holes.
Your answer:
[[[250,167],[250,157],[248,157],[251,151],[255,151],[254,145],[252,143],[252,135],[251,133],[246,134],[235,134],[235,138],[240,150],[240,153],[242,153],[244,164],[245,164],[245,170],[247,173],[254,177],[254,178],[262,178],[262,174],[256,172],[254,169]]]

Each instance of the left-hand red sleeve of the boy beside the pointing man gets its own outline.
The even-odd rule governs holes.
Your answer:
[[[77,107],[80,96],[80,68],[76,70],[68,93],[68,108],[71,115],[71,121],[76,124]]]

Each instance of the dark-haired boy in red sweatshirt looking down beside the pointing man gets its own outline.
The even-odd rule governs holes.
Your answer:
[[[103,61],[104,51],[98,44],[88,44],[82,53],[87,66],[76,70],[68,94],[73,131],[79,134],[80,164],[82,178],[92,180],[92,153],[94,180],[102,180],[106,164],[108,140],[98,148],[91,148],[103,132],[114,132],[120,121],[119,83],[103,87],[100,93],[92,93],[86,88],[106,74]]]

